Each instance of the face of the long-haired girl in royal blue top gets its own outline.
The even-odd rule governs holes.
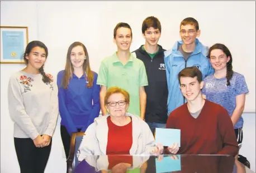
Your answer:
[[[84,60],[86,59],[86,53],[82,46],[75,46],[70,53],[70,61],[74,68],[83,67]]]

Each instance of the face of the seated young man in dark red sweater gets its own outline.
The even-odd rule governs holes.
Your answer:
[[[197,76],[195,77],[181,77],[180,78],[180,88],[182,95],[187,99],[187,101],[196,100],[196,98],[201,96],[201,89],[203,87],[203,81],[198,82]]]

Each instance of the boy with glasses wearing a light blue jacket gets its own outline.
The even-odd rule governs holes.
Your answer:
[[[177,107],[186,103],[179,89],[178,73],[186,67],[196,66],[203,74],[203,79],[214,72],[207,56],[208,47],[203,46],[197,39],[200,36],[199,24],[195,18],[183,19],[177,41],[172,49],[164,52],[164,60],[168,85],[168,115]]]

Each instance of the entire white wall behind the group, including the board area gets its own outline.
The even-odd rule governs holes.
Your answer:
[[[222,42],[230,48],[234,70],[245,75],[250,90],[245,110],[254,113],[243,115],[244,145],[241,154],[248,157],[255,171],[255,2],[1,1],[1,26],[29,27],[29,41],[37,39],[48,46],[45,71],[55,76],[63,70],[68,47],[74,41],[86,45],[91,67],[98,72],[100,61],[116,51],[112,37],[118,22],[131,25],[134,35],[131,50],[135,50],[144,43],[141,23],[148,16],[159,18],[162,24],[159,44],[165,49],[171,48],[179,39],[179,23],[188,16],[198,20],[200,40],[205,45]],[[23,67],[1,65],[1,172],[4,173],[19,171],[6,91],[11,73]],[[65,171],[59,122],[46,173]]]

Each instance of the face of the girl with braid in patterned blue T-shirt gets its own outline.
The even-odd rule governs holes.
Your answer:
[[[215,71],[225,69],[229,61],[230,57],[227,57],[220,49],[215,49],[210,52],[210,62]]]

